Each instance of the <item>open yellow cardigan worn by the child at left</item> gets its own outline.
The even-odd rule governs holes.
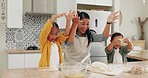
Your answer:
[[[51,46],[52,43],[47,39],[51,28],[52,28],[52,23],[50,22],[50,20],[48,20],[46,22],[46,24],[44,25],[43,29],[41,30],[40,33],[40,49],[41,49],[41,58],[40,58],[40,62],[39,62],[39,67],[50,67],[50,53],[51,53]],[[64,62],[63,59],[63,55],[62,55],[62,48],[61,48],[61,44],[63,42],[65,42],[65,40],[68,38],[68,36],[64,35],[64,32],[61,32],[60,35],[58,36],[58,38],[56,39],[56,45],[58,46],[58,56],[59,56],[59,61],[60,64],[62,64]]]

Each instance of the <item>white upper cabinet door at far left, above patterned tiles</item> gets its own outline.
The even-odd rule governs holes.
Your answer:
[[[7,27],[22,28],[23,0],[7,0]]]

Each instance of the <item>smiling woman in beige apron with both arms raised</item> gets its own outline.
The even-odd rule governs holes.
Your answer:
[[[107,24],[102,34],[96,34],[90,31],[90,17],[87,13],[78,13],[79,19],[73,19],[73,30],[71,30],[69,38],[65,42],[65,61],[80,62],[90,52],[91,42],[105,41],[109,36],[111,23],[118,19],[117,13],[113,12],[108,16]]]

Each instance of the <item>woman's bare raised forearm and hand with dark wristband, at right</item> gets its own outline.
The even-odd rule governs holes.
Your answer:
[[[106,26],[104,28],[104,31],[103,31],[103,35],[104,37],[108,37],[109,34],[110,34],[110,25],[116,20],[119,18],[119,15],[117,15],[118,11],[117,12],[113,12],[111,13],[109,16],[108,16],[108,19],[107,19],[107,23],[106,23]]]

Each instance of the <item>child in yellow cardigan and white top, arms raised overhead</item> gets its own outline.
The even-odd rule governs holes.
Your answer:
[[[58,35],[59,26],[54,20],[62,16],[66,18],[66,28],[64,32]],[[67,15],[66,13],[53,15],[51,19],[46,22],[39,38],[41,49],[39,67],[57,67],[63,63],[61,44],[65,42],[69,36],[70,22],[74,17],[75,12],[70,11]]]

